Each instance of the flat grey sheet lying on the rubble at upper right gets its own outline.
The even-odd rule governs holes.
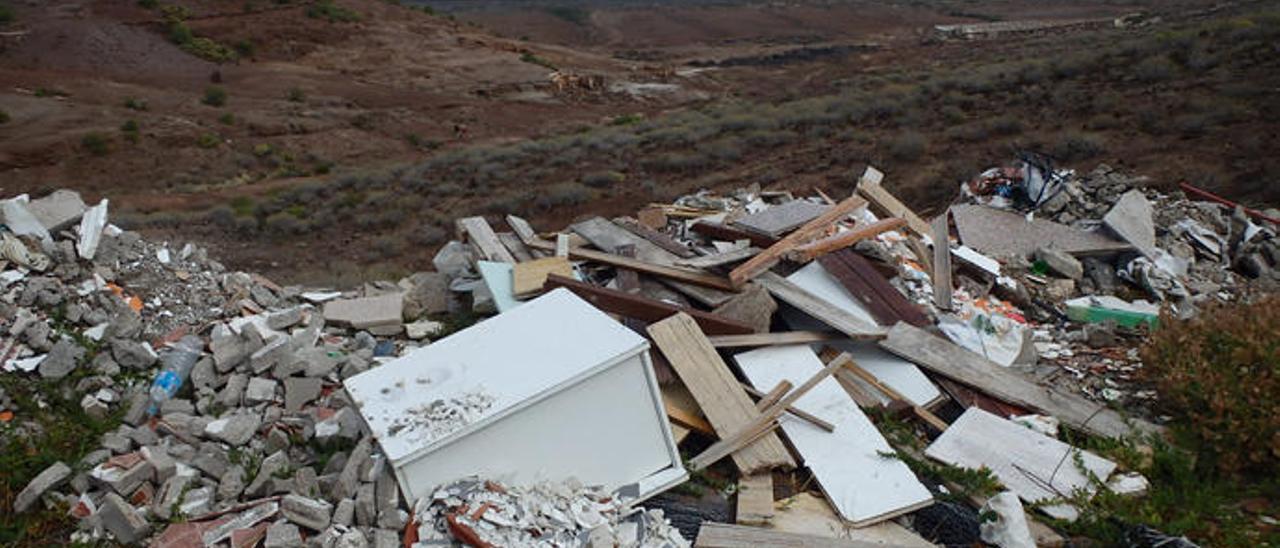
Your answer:
[[[1133,246],[1098,232],[1087,232],[1047,219],[1025,216],[980,205],[956,205],[951,215],[960,242],[996,257],[1029,256],[1038,247],[1073,255],[1111,254]]]

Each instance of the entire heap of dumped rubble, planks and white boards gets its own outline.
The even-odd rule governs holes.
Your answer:
[[[1133,382],[1161,310],[1280,284],[1280,213],[1193,187],[1028,155],[925,220],[882,178],[558,232],[465,218],[435,271],[352,291],[145,241],[106,200],[9,198],[0,375],[120,420],[13,512],[154,547],[1055,545],[1065,494],[1142,496],[1057,434],[1162,430]],[[1004,493],[941,501],[876,410]],[[38,412],[0,393],[0,437]],[[690,474],[732,506],[673,502]]]

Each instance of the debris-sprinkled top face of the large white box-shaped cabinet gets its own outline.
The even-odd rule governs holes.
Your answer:
[[[344,384],[383,452],[396,462],[646,347],[644,338],[561,288]],[[433,433],[413,421],[403,426],[425,407],[462,398],[489,405],[452,431]]]

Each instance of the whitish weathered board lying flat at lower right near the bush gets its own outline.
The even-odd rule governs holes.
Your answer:
[[[970,470],[986,466],[1000,483],[1027,502],[1056,501],[1070,497],[1078,489],[1093,493],[1094,485],[1080,465],[1101,479],[1116,469],[1115,462],[977,407],[969,407],[960,415],[924,449],[924,455]],[[1051,515],[1070,512],[1065,508],[1050,510]]]

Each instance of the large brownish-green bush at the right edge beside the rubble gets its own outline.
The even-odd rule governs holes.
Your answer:
[[[1199,466],[1280,476],[1280,297],[1160,321],[1142,348],[1142,374]]]

